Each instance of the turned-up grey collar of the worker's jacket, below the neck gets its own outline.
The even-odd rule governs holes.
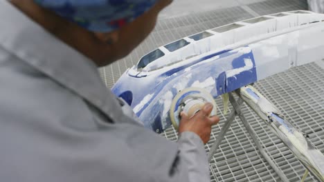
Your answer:
[[[112,120],[122,117],[96,65],[44,30],[8,1],[0,1],[0,46],[92,103]]]

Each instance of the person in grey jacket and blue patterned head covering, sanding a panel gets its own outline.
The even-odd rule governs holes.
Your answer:
[[[170,3],[0,1],[0,181],[210,181],[213,105],[181,113],[179,140],[168,141],[127,114],[98,74]]]

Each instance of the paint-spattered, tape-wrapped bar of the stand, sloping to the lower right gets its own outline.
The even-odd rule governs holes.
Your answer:
[[[297,159],[318,181],[324,181],[324,155],[314,148],[307,135],[298,131],[283,114],[268,101],[258,90],[246,86],[237,90],[237,95],[243,99],[259,117],[267,123],[271,131],[282,140]],[[245,121],[245,123],[247,123]],[[274,168],[273,168],[274,169]]]

